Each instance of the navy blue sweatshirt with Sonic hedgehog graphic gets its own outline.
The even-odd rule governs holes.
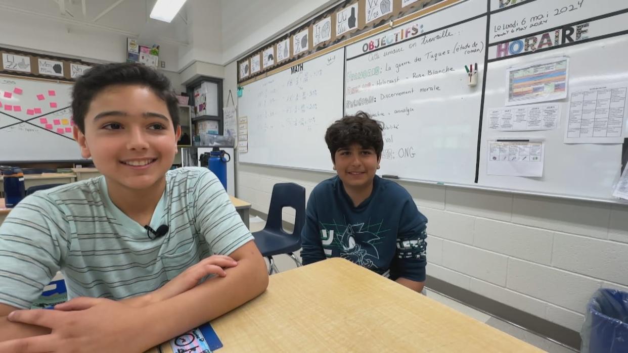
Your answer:
[[[342,257],[393,280],[425,280],[428,220],[396,182],[375,176],[371,196],[355,207],[332,177],[314,188],[305,214],[303,265]]]

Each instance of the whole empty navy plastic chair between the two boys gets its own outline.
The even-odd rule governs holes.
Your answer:
[[[283,230],[281,210],[284,207],[294,208],[296,211],[295,228],[292,233]],[[305,187],[294,182],[274,184],[271,195],[271,206],[268,209],[266,226],[261,231],[253,233],[255,245],[268,258],[268,274],[279,272],[274,265],[273,256],[289,255],[295,260],[296,266],[301,266],[301,261],[293,254],[301,248],[301,229],[305,225]]]

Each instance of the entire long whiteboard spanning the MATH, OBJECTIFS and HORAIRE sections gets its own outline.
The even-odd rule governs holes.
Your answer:
[[[406,35],[415,29],[420,34]],[[246,161],[329,171],[323,134],[325,127],[342,115],[336,106],[336,95],[342,94],[344,113],[364,110],[386,127],[381,174],[620,202],[611,196],[619,181],[622,144],[566,144],[564,137],[571,90],[628,82],[628,66],[618,60],[628,55],[627,33],[625,1],[519,0],[503,8],[497,0],[460,1],[346,46],[344,71],[337,68],[320,80],[334,93],[322,105],[317,101],[315,124],[309,128],[273,126],[281,138],[271,140],[259,127],[275,118],[255,115],[258,121],[251,125],[250,140],[266,140],[260,151],[255,151],[259,144],[249,144]],[[403,40],[399,41],[399,36]],[[378,45],[381,48],[372,50]],[[440,54],[430,56],[430,52]],[[567,98],[546,102],[560,105],[558,127],[525,132],[489,129],[489,112],[506,105],[507,70],[558,56],[569,59]],[[475,62],[480,76],[477,86],[469,87],[464,66]],[[342,93],[337,90],[338,72],[345,76]],[[275,81],[279,75],[283,78]],[[254,87],[260,96],[246,98],[246,112],[241,115],[254,115],[256,107],[269,104],[269,96],[263,92],[275,92],[289,77],[290,70],[286,70],[247,85],[245,95]],[[284,107],[271,101],[275,111]],[[628,137],[628,124],[623,137]],[[542,140],[542,176],[489,176],[487,141],[495,139]],[[266,154],[276,155],[268,163]]]

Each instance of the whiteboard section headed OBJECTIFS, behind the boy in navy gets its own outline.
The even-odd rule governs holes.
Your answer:
[[[440,11],[376,40],[406,29],[441,28],[482,9],[484,1],[467,1],[455,13]],[[469,87],[464,66],[477,63],[484,70],[485,32],[482,16],[377,51],[364,52],[373,39],[347,47],[345,112],[363,110],[384,123],[382,174],[474,182],[479,124],[470,112],[480,111],[482,80]]]

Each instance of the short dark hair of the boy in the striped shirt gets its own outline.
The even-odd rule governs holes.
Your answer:
[[[141,85],[153,90],[166,102],[172,124],[179,125],[179,106],[170,80],[153,68],[139,63],[111,63],[96,65],[80,76],[72,89],[72,120],[85,133],[85,114],[94,97],[112,85]]]

